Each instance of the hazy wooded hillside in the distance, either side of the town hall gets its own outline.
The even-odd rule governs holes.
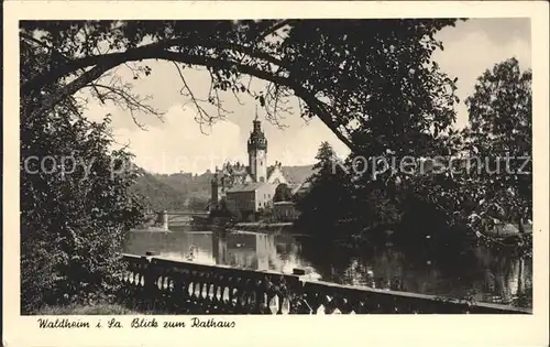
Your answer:
[[[289,183],[301,183],[312,173],[312,165],[283,166]],[[142,195],[153,210],[204,209],[210,199],[210,182],[213,174],[206,172],[152,174],[140,169],[138,182],[132,192]]]

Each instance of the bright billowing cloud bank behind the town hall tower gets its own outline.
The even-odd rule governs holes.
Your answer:
[[[204,173],[221,166],[224,162],[240,161],[248,164],[246,138],[252,130],[252,122],[245,122],[250,129],[243,129],[232,121],[218,121],[212,127],[195,120],[196,112],[190,108],[173,105],[164,115],[163,123],[146,123],[146,131],[129,121],[130,115],[114,106],[90,104],[85,115],[90,120],[99,121],[111,113],[114,149],[128,145],[135,155],[135,163],[156,173],[193,172]],[[124,118],[124,119],[122,119]],[[316,162],[319,145],[328,141],[339,156],[345,156],[350,150],[319,119],[308,123],[297,122],[298,129],[292,132],[278,132],[263,121],[268,141],[267,161],[284,165],[309,165]],[[242,133],[244,132],[244,133]]]

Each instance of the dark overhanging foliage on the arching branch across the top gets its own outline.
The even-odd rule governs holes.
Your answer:
[[[435,34],[454,22],[452,19],[23,22],[22,40],[47,47],[52,68],[33,75],[22,85],[21,94],[32,97],[38,109],[51,107],[84,87],[90,87],[101,99],[98,90],[106,87],[97,82],[101,75],[123,63],[158,58],[174,63],[182,77],[183,94],[195,102],[199,121],[210,122],[227,113],[219,91],[253,96],[273,121],[283,112],[293,112],[287,101],[298,97],[300,116],[319,117],[351,148],[362,143],[362,137],[370,135],[364,131],[355,133],[353,128],[358,122],[363,129],[371,129],[370,133],[384,135],[395,131],[394,138],[402,135],[395,143],[399,148],[409,141],[408,135],[403,135],[409,132],[407,129],[414,134],[424,128],[422,122],[418,124],[420,119],[431,119],[436,132],[452,120],[454,80],[442,74],[430,56],[442,47]],[[103,53],[106,50],[109,53]],[[206,66],[210,72],[207,101],[218,107],[217,116],[205,111],[185,79],[185,68],[194,65]],[[87,67],[91,69],[85,73]],[[133,72],[135,78],[141,78],[151,68],[143,63]],[[268,85],[263,90],[251,90],[246,76],[266,80]],[[59,78],[72,82],[54,97],[40,94],[42,87]],[[385,126],[378,119],[392,119],[392,124]],[[359,139],[352,140],[354,137]]]

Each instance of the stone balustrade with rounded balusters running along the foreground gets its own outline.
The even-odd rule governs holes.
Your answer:
[[[530,314],[530,310],[124,254],[121,300],[167,314]]]

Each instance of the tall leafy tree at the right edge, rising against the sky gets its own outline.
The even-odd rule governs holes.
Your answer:
[[[490,160],[482,164],[485,170],[472,171],[465,186],[479,191],[476,213],[515,221],[520,230],[532,218],[531,78],[516,58],[504,61],[480,76],[466,100],[465,149]]]

